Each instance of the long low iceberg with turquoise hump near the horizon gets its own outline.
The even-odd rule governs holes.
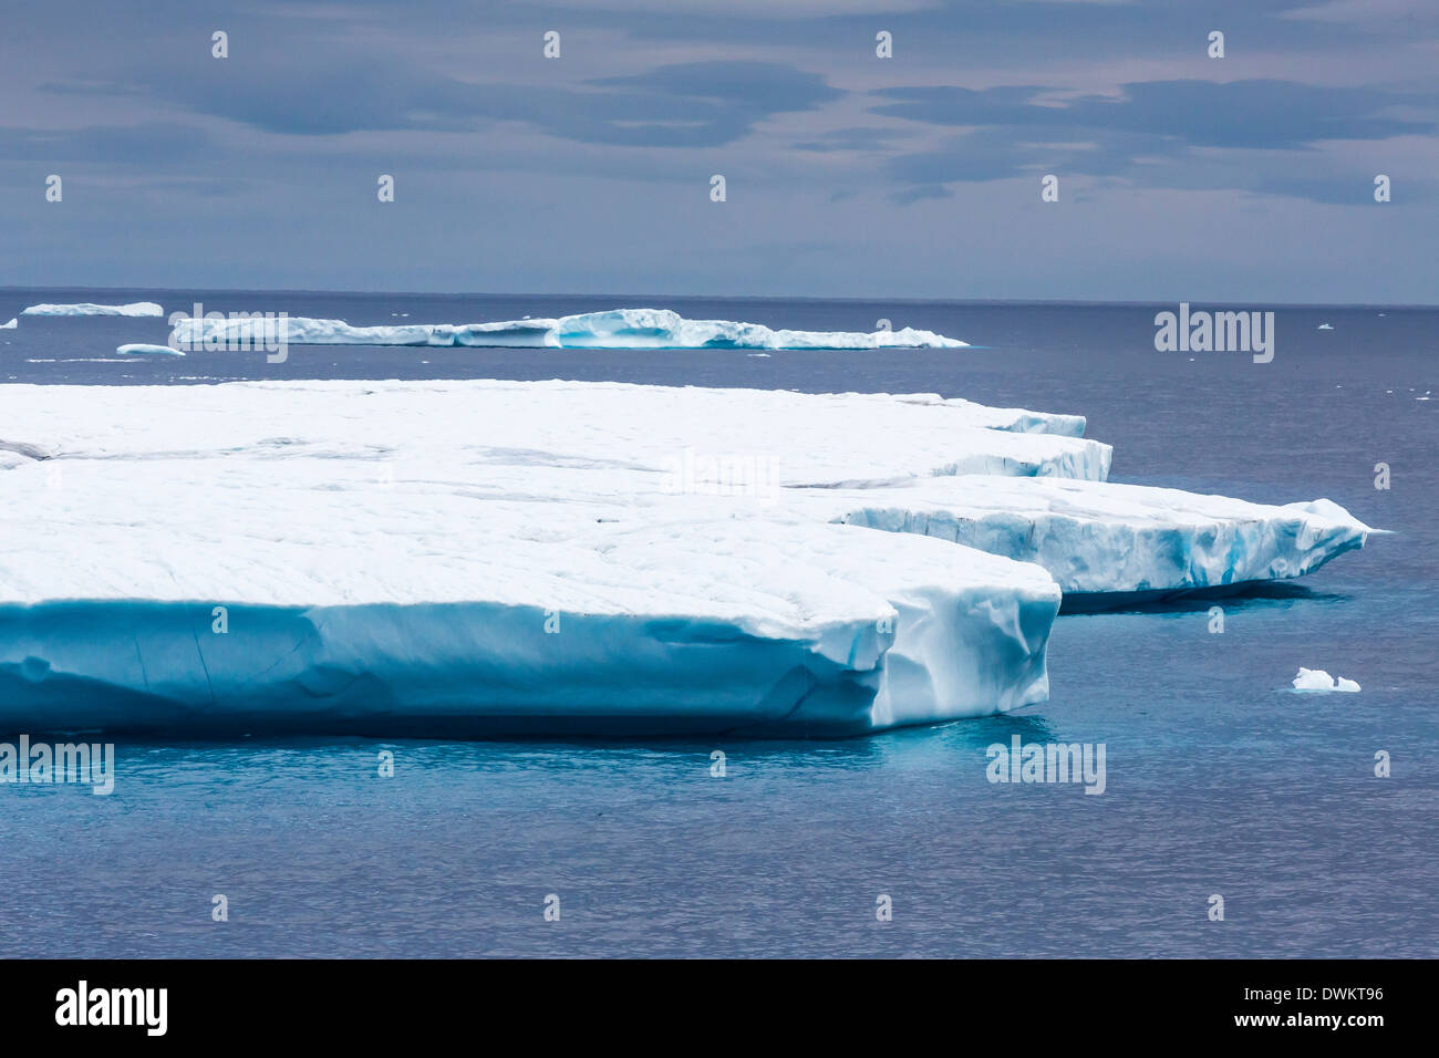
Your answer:
[[[191,348],[258,343],[276,337],[276,320],[186,317],[176,343]],[[482,324],[383,324],[354,327],[342,320],[288,317],[291,345],[499,345],[527,348],[966,348],[934,331],[794,331],[728,320],[685,320],[663,308],[619,308],[557,320],[505,320]]]

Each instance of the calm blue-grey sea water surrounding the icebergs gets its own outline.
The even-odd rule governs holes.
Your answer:
[[[1156,353],[1160,307],[1122,305],[0,289],[0,320],[132,299],[357,324],[636,304],[812,330],[882,317],[979,348],[109,363],[117,344],[164,343],[164,321],[24,318],[0,331],[0,381],[938,392],[1082,412],[1117,446],[1117,481],[1328,497],[1394,535],[1302,589],[1226,600],[1223,635],[1209,603],[1061,618],[1050,701],[1002,718],[829,743],[121,744],[109,797],[0,787],[0,956],[1439,954],[1439,435],[1423,399],[1439,389],[1439,311],[1278,309],[1266,366]],[[1288,692],[1301,665],[1364,689]],[[1108,789],[990,785],[984,750],[1014,734],[1105,743]],[[386,749],[393,779],[377,776]],[[227,923],[212,921],[216,894]],[[876,921],[879,894],[892,921]]]

